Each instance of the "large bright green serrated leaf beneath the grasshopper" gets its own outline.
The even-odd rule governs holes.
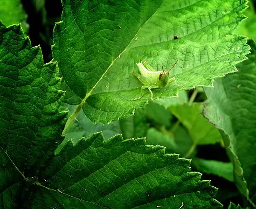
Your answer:
[[[154,98],[212,85],[212,78],[235,72],[249,52],[246,37],[233,35],[246,0],[64,0],[54,29],[53,57],[67,90],[66,102],[92,122],[107,123],[133,114],[150,99],[133,76],[136,63],[171,70],[170,82]],[[174,36],[178,39],[174,40]],[[72,118],[74,119],[74,117]]]

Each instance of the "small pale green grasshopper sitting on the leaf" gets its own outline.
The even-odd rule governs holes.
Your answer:
[[[178,60],[174,63],[174,65],[176,65],[177,62]],[[164,67],[162,67],[163,71],[156,71],[150,65],[148,65],[148,63],[145,60],[136,63],[136,65],[138,66],[139,72],[141,74],[139,74],[136,71],[133,71],[133,75],[137,77],[138,80],[144,85],[141,87],[141,93],[143,89],[149,90],[151,94],[151,100],[154,100],[153,92],[151,91],[151,89],[165,87],[168,84],[168,82],[172,82],[175,80],[174,77],[169,79],[169,72],[174,67],[174,65],[172,65],[172,67],[168,71],[164,70]],[[142,96],[134,99],[133,101],[139,100],[141,98]]]

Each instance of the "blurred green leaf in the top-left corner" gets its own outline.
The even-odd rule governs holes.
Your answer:
[[[28,24],[26,23],[27,15],[23,10],[20,0],[1,0],[0,20],[5,25],[20,23],[25,33],[28,30]]]

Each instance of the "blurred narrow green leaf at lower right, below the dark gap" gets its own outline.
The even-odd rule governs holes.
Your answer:
[[[234,181],[233,164],[230,162],[193,158],[192,164],[202,173],[214,174],[230,182]]]

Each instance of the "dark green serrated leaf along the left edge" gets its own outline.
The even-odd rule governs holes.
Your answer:
[[[20,25],[0,21],[0,206],[21,208],[30,195],[25,186],[36,181],[63,140],[67,113],[58,90],[56,62],[43,65],[40,47],[31,48]]]

